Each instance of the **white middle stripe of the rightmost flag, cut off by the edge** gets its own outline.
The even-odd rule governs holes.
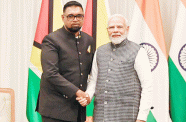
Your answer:
[[[186,81],[186,71],[184,71],[181,68],[179,61],[178,61],[178,55],[179,55],[180,49],[185,44],[186,44],[186,8],[183,5],[183,3],[180,1],[180,6],[178,9],[178,15],[176,19],[176,25],[175,25],[175,30],[174,30],[174,35],[173,35],[171,48],[170,48],[171,50],[170,50],[169,55],[171,59],[173,60],[174,64],[176,65],[177,69],[181,73],[182,77]]]

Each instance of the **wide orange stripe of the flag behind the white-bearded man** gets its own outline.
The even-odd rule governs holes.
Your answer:
[[[148,27],[150,28],[152,34],[154,35],[160,49],[164,53],[165,57],[167,57],[168,59],[168,55],[165,48],[166,46],[165,46],[163,26],[162,26],[161,15],[160,15],[159,1],[158,0],[136,0],[136,3],[138,4],[143,14],[144,20],[146,21]]]

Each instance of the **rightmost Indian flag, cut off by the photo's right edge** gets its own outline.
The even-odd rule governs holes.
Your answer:
[[[186,122],[186,0],[180,0],[169,53],[170,111],[173,122]]]

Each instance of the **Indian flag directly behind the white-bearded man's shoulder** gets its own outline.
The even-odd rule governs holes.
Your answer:
[[[158,0],[136,0],[128,39],[142,45],[153,77],[153,109],[147,122],[169,122],[167,53]]]

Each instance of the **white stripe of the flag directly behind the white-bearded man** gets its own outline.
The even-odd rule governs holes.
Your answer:
[[[160,49],[149,26],[145,22],[142,12],[137,4],[129,30],[128,39],[138,44],[149,43],[153,45],[159,54],[159,63],[153,70],[153,107],[152,113],[157,122],[170,122],[169,117],[169,79],[168,65],[165,55]]]

